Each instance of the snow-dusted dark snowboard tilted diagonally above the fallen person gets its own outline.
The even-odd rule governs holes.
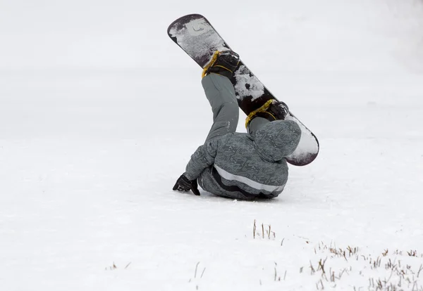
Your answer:
[[[231,50],[209,20],[200,14],[178,18],[169,25],[167,32],[168,36],[202,68],[209,63],[215,51]],[[242,60],[233,73],[231,82],[235,88],[238,105],[247,116],[267,101],[277,100]],[[319,153],[319,141],[292,112],[289,111],[285,119],[295,121],[301,129],[300,143],[294,153],[286,157],[287,162],[296,166],[309,164]]]

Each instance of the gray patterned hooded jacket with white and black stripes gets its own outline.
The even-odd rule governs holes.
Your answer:
[[[184,174],[215,195],[274,198],[288,180],[284,157],[293,153],[300,136],[298,124],[284,120],[267,123],[254,136],[225,134],[197,148]]]

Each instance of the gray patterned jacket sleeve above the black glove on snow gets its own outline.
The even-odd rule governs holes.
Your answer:
[[[214,158],[216,157],[220,143],[220,138],[214,138],[214,140],[200,145],[195,150],[195,153],[192,154],[184,175],[190,180],[197,179],[204,169],[214,164]]]

